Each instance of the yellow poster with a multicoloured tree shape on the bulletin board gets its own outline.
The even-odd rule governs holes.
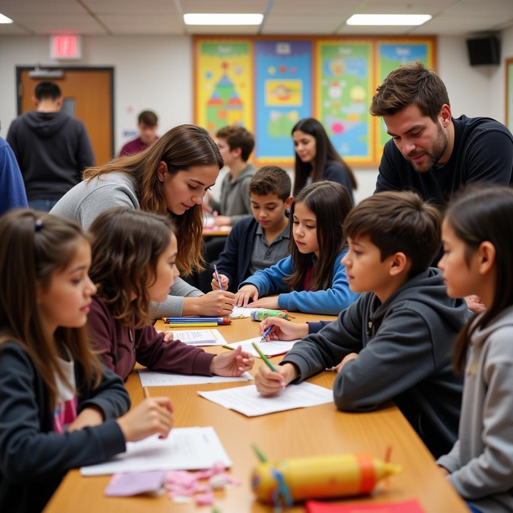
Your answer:
[[[195,123],[215,134],[226,125],[253,131],[250,40],[196,40]]]

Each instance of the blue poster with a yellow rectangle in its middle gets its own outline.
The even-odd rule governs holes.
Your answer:
[[[312,44],[255,41],[254,61],[255,160],[291,165],[292,127],[312,113]]]

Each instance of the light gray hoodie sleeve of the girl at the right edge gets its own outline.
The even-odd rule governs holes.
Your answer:
[[[483,378],[488,387],[483,405],[484,452],[453,471],[447,479],[465,499],[479,499],[511,488],[513,468],[513,354],[511,328],[490,335]]]

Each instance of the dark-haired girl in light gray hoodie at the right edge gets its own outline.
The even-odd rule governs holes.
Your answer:
[[[472,511],[513,510],[513,190],[469,189],[447,210],[439,263],[450,297],[477,294],[487,311],[456,341],[464,372],[458,441],[437,463]]]

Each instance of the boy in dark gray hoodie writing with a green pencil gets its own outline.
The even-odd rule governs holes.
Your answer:
[[[322,329],[295,344],[276,372],[261,366],[259,391],[276,393],[340,362],[333,384],[339,409],[371,411],[393,399],[433,456],[447,452],[457,439],[463,388],[451,349],[467,308],[429,268],[440,223],[438,210],[412,192],[381,192],[354,208],[344,222],[342,263],[350,289],[362,295],[336,321],[310,324]],[[271,338],[297,338],[286,334],[291,323],[266,321],[275,325]]]

